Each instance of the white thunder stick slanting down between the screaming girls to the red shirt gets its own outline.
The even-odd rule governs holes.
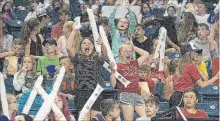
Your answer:
[[[105,34],[105,31],[103,29],[102,26],[99,26],[99,32],[100,32],[100,35],[102,37],[102,40],[103,40],[103,44],[105,45],[106,47],[106,50],[107,50],[107,54],[108,54],[108,58],[110,60],[110,62],[114,62],[115,63],[115,66],[114,66],[114,69],[117,70],[117,66],[116,66],[116,62],[115,62],[115,59],[114,59],[114,56],[112,55],[112,51],[111,51],[111,48],[109,46],[109,42],[108,42],[108,39],[106,37],[106,34]],[[111,72],[111,69],[109,69],[109,64],[107,62],[105,62],[103,64],[103,67],[105,69],[107,69],[109,72]],[[117,71],[115,72],[115,77],[125,86],[125,87],[128,87],[128,85],[131,83],[130,81],[128,81],[127,79],[125,79],[120,73],[118,73]]]

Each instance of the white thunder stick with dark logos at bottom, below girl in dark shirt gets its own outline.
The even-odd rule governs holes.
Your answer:
[[[101,92],[103,90],[104,89],[99,84],[97,84],[97,86],[96,86],[95,90],[93,91],[92,95],[89,97],[86,104],[83,106],[83,108],[82,108],[82,110],[79,114],[78,121],[84,121],[84,117],[89,112],[92,105],[95,103],[96,99],[99,97],[99,95],[101,94]]]

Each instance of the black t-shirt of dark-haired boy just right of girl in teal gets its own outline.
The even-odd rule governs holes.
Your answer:
[[[141,48],[143,50],[146,50],[147,52],[151,53],[153,50],[153,42],[151,39],[147,38],[147,40],[145,40],[144,42],[139,42],[136,39],[134,39],[133,44],[138,47]],[[137,58],[140,57],[139,54],[136,54]]]

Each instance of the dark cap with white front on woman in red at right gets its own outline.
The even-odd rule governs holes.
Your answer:
[[[186,45],[182,45],[180,48],[180,52],[182,55],[184,55],[187,52],[196,52],[196,53],[202,53],[202,49],[196,49],[194,44],[186,44]]]

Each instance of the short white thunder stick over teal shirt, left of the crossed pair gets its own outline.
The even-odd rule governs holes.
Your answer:
[[[39,77],[37,78],[37,81],[36,81],[35,84],[34,84],[34,87],[35,87],[36,84],[41,85],[42,82],[43,82],[43,77],[42,77],[42,76],[39,76]],[[24,108],[23,108],[22,113],[24,113],[24,114],[28,114],[28,113],[29,113],[29,111],[30,111],[30,109],[31,109],[31,106],[32,106],[32,104],[33,104],[33,102],[34,102],[34,99],[35,99],[35,97],[37,96],[37,91],[36,91],[36,89],[35,89],[34,87],[32,88],[31,93],[30,93],[30,95],[29,95],[29,97],[28,97],[28,100],[27,100],[27,102],[26,102],[26,104],[25,104],[25,106],[24,106]]]

